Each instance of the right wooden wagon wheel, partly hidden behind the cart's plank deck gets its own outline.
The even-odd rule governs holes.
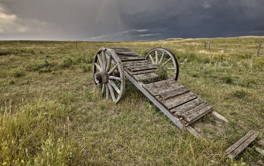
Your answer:
[[[153,55],[153,57],[151,56],[151,54]],[[175,55],[170,50],[166,48],[162,48],[162,47],[153,48],[146,54],[145,59],[148,60],[147,59],[148,57],[151,60],[150,63],[152,63],[153,65],[160,66],[160,67],[172,61],[174,67],[168,68],[168,70],[174,70],[173,79],[177,81],[178,75],[179,75],[179,65],[178,65]],[[165,60],[164,57],[168,57],[168,59]]]

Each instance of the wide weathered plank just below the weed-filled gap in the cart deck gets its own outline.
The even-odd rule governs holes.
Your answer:
[[[143,88],[146,89],[153,97],[167,91],[167,89],[177,89],[179,87],[182,87],[182,85],[174,79],[166,79],[143,85]]]

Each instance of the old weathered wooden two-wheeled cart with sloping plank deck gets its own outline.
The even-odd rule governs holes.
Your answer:
[[[158,67],[172,70],[173,77],[156,81]],[[166,48],[154,48],[145,57],[127,47],[100,48],[93,61],[95,85],[102,85],[102,94],[110,96],[116,104],[125,91],[129,79],[180,129],[187,129],[195,137],[199,134],[190,126],[193,122],[211,112],[220,120],[226,120],[208,102],[198,98],[187,87],[177,82],[179,66],[174,54]]]

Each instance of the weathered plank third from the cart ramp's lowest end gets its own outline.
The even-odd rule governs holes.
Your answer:
[[[190,109],[197,107],[198,105],[202,104],[204,101],[201,98],[196,98],[188,103],[185,103],[179,107],[171,109],[170,112],[176,116],[177,118],[181,117],[181,115]]]

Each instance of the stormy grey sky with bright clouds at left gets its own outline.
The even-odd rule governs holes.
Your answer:
[[[264,0],[0,0],[0,40],[264,36]]]

